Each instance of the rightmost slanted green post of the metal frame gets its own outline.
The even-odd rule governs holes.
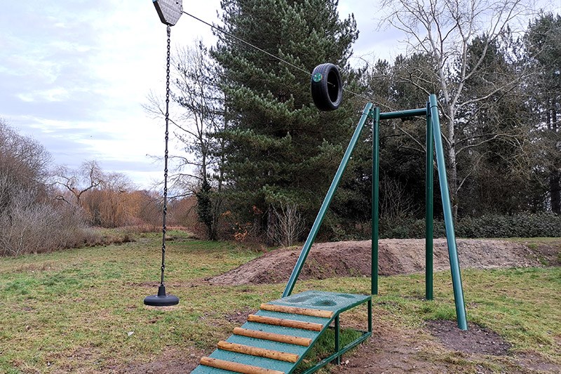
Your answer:
[[[438,180],[440,181],[440,196],[442,197],[442,210],[444,211],[444,222],[446,227],[446,240],[448,243],[448,255],[450,256],[450,272],[452,273],[452,287],[454,288],[454,302],[456,304],[456,318],[461,330],[468,329],[466,320],[466,306],[464,303],[464,290],[461,286],[461,274],[459,266],[458,251],[456,246],[456,234],[454,234],[454,220],[452,220],[452,207],[450,206],[450,191],[446,177],[446,165],[444,161],[444,148],[442,147],[442,135],[440,134],[440,119],[438,119],[438,103],[436,95],[428,98],[431,106],[431,122],[433,125],[434,146],[436,151],[436,164],[438,166]]]

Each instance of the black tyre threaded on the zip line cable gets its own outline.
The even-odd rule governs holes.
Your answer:
[[[311,74],[311,97],[324,112],[335,110],[343,100],[343,82],[337,66],[321,64]]]

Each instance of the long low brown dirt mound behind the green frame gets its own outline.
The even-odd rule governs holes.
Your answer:
[[[501,240],[458,239],[460,266],[489,269],[540,266],[526,246]],[[424,239],[379,241],[379,274],[424,272]],[[207,279],[212,284],[280,283],[290,277],[301,248],[282,248],[266,253],[230,272]],[[339,241],[314,244],[299,279],[336,276],[370,276],[370,241]],[[434,269],[450,269],[446,239],[434,241]]]

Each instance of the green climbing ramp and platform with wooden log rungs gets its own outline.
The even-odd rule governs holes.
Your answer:
[[[368,330],[339,347],[339,314],[363,304],[367,305]],[[344,352],[372,335],[372,297],[309,290],[262,304],[191,373],[292,373],[328,328],[334,329],[334,353],[304,373],[339,361]]]

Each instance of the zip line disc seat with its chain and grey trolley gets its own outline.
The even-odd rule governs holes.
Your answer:
[[[161,265],[161,281],[158,286],[158,294],[150,295],[144,298],[144,305],[151,307],[171,307],[177,305],[180,299],[175,295],[166,295],[165,286],[163,284],[163,272],[165,270],[165,219],[168,213],[168,139],[169,139],[169,122],[170,122],[170,26],[175,25],[179,20],[183,8],[182,0],[154,0],[154,6],[160,16],[160,20],[164,25],[168,26],[168,53],[166,56],[167,69],[165,80],[165,153],[163,168],[163,212],[162,212],[162,265]]]

